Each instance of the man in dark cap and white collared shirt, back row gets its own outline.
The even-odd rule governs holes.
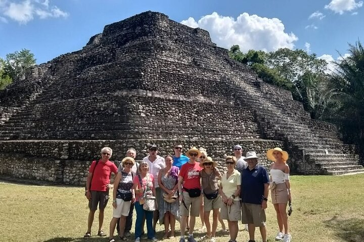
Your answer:
[[[163,168],[165,168],[165,162],[164,162],[164,158],[160,157],[158,155],[158,147],[155,144],[152,144],[149,149],[149,156],[144,157],[143,162],[147,162],[148,166],[149,166],[149,173],[151,173],[154,176],[154,187],[156,188],[156,204],[159,204],[159,200],[160,200],[160,187],[158,184],[158,173],[160,170],[162,170]],[[157,209],[154,211],[154,215],[153,215],[153,229],[155,231],[155,227],[157,225],[158,222],[158,217],[159,217],[159,211],[158,211],[158,207]]]

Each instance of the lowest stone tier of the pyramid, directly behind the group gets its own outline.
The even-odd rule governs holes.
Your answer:
[[[233,155],[234,145],[239,143],[243,153],[254,150],[260,163],[270,167],[265,152],[272,147],[283,147],[276,140],[83,140],[83,141],[4,141],[0,147],[0,175],[23,179],[44,180],[54,183],[83,185],[90,162],[99,159],[99,152],[105,146],[113,149],[111,160],[116,165],[124,158],[128,148],[137,152],[136,160],[148,155],[147,147],[156,143],[160,155],[172,153],[174,143],[184,142],[184,153],[189,147],[207,149],[208,155],[219,162],[224,169],[223,158]],[[11,153],[9,153],[11,152]]]

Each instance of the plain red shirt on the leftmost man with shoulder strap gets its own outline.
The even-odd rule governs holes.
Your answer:
[[[110,183],[111,173],[117,174],[117,167],[114,162],[102,162],[100,160],[96,165],[96,161],[91,163],[88,172],[93,173],[91,181],[91,189],[93,191],[106,191],[106,185]]]

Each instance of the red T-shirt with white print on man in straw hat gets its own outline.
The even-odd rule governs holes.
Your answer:
[[[201,171],[201,167],[200,167],[200,163],[199,162],[195,162],[195,164],[190,164],[190,163],[186,163],[184,164],[180,171],[179,171],[179,176],[184,178],[184,183],[183,183],[183,190],[185,190],[185,188],[187,189],[194,189],[194,188],[199,188],[201,189],[201,184],[200,184],[200,171]],[[186,190],[185,190],[186,191]]]

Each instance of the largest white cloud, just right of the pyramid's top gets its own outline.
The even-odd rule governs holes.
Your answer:
[[[214,12],[198,21],[190,17],[181,23],[209,31],[212,41],[226,49],[239,44],[242,52],[250,49],[276,51],[282,47],[293,49],[294,42],[298,40],[294,33],[284,31],[285,26],[281,20],[248,13],[239,15],[235,20]]]

